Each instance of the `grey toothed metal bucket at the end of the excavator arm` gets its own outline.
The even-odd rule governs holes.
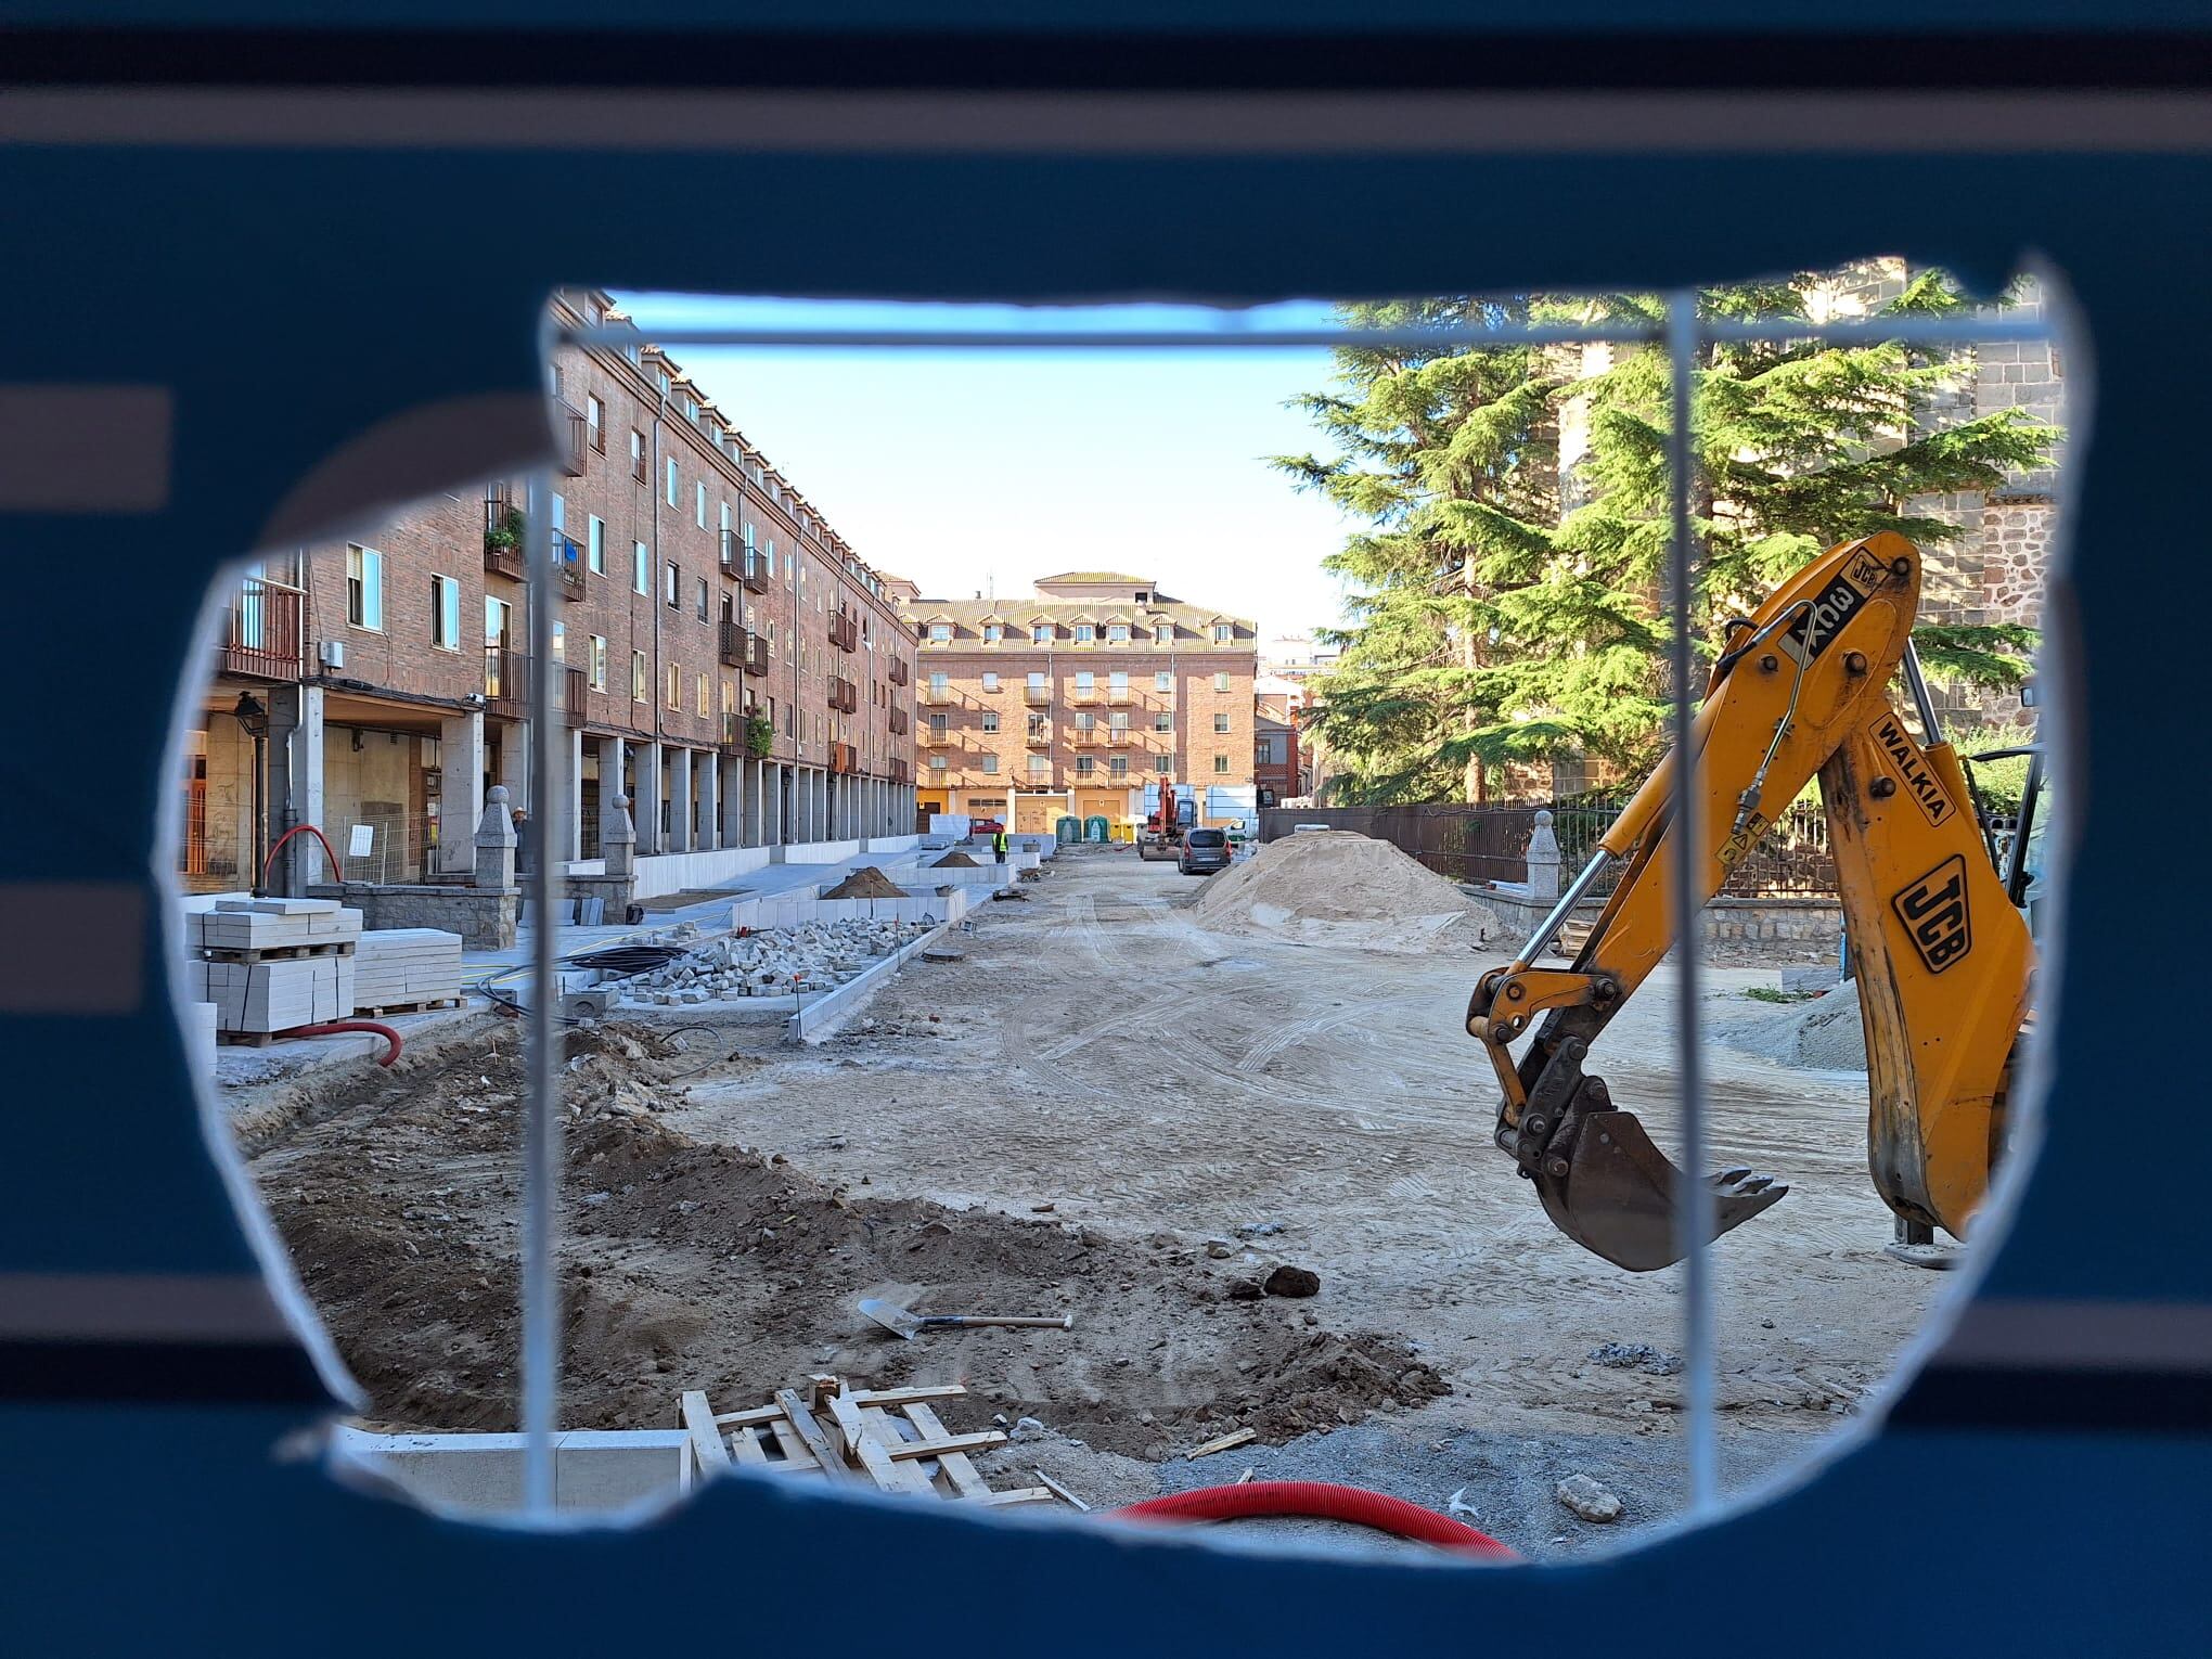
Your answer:
[[[1553,1157],[1559,1144],[1551,1144]],[[1674,1183],[1683,1179],[1652,1146],[1635,1113],[1586,1113],[1566,1150],[1566,1175],[1535,1175],[1544,1212],[1584,1250],[1628,1272],[1652,1272],[1681,1261],[1674,1232]],[[1750,1170],[1721,1170],[1705,1179],[1714,1194],[1712,1237],[1741,1228],[1790,1188]]]

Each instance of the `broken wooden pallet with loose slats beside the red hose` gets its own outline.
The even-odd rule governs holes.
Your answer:
[[[803,1396],[776,1389],[768,1405],[745,1411],[714,1411],[703,1389],[686,1389],[677,1413],[690,1433],[697,1480],[750,1469],[978,1506],[1060,1502],[1051,1486],[991,1491],[969,1453],[1002,1447],[1006,1436],[949,1433],[936,1413],[938,1400],[964,1394],[958,1383],[849,1389],[841,1378],[816,1376]]]

